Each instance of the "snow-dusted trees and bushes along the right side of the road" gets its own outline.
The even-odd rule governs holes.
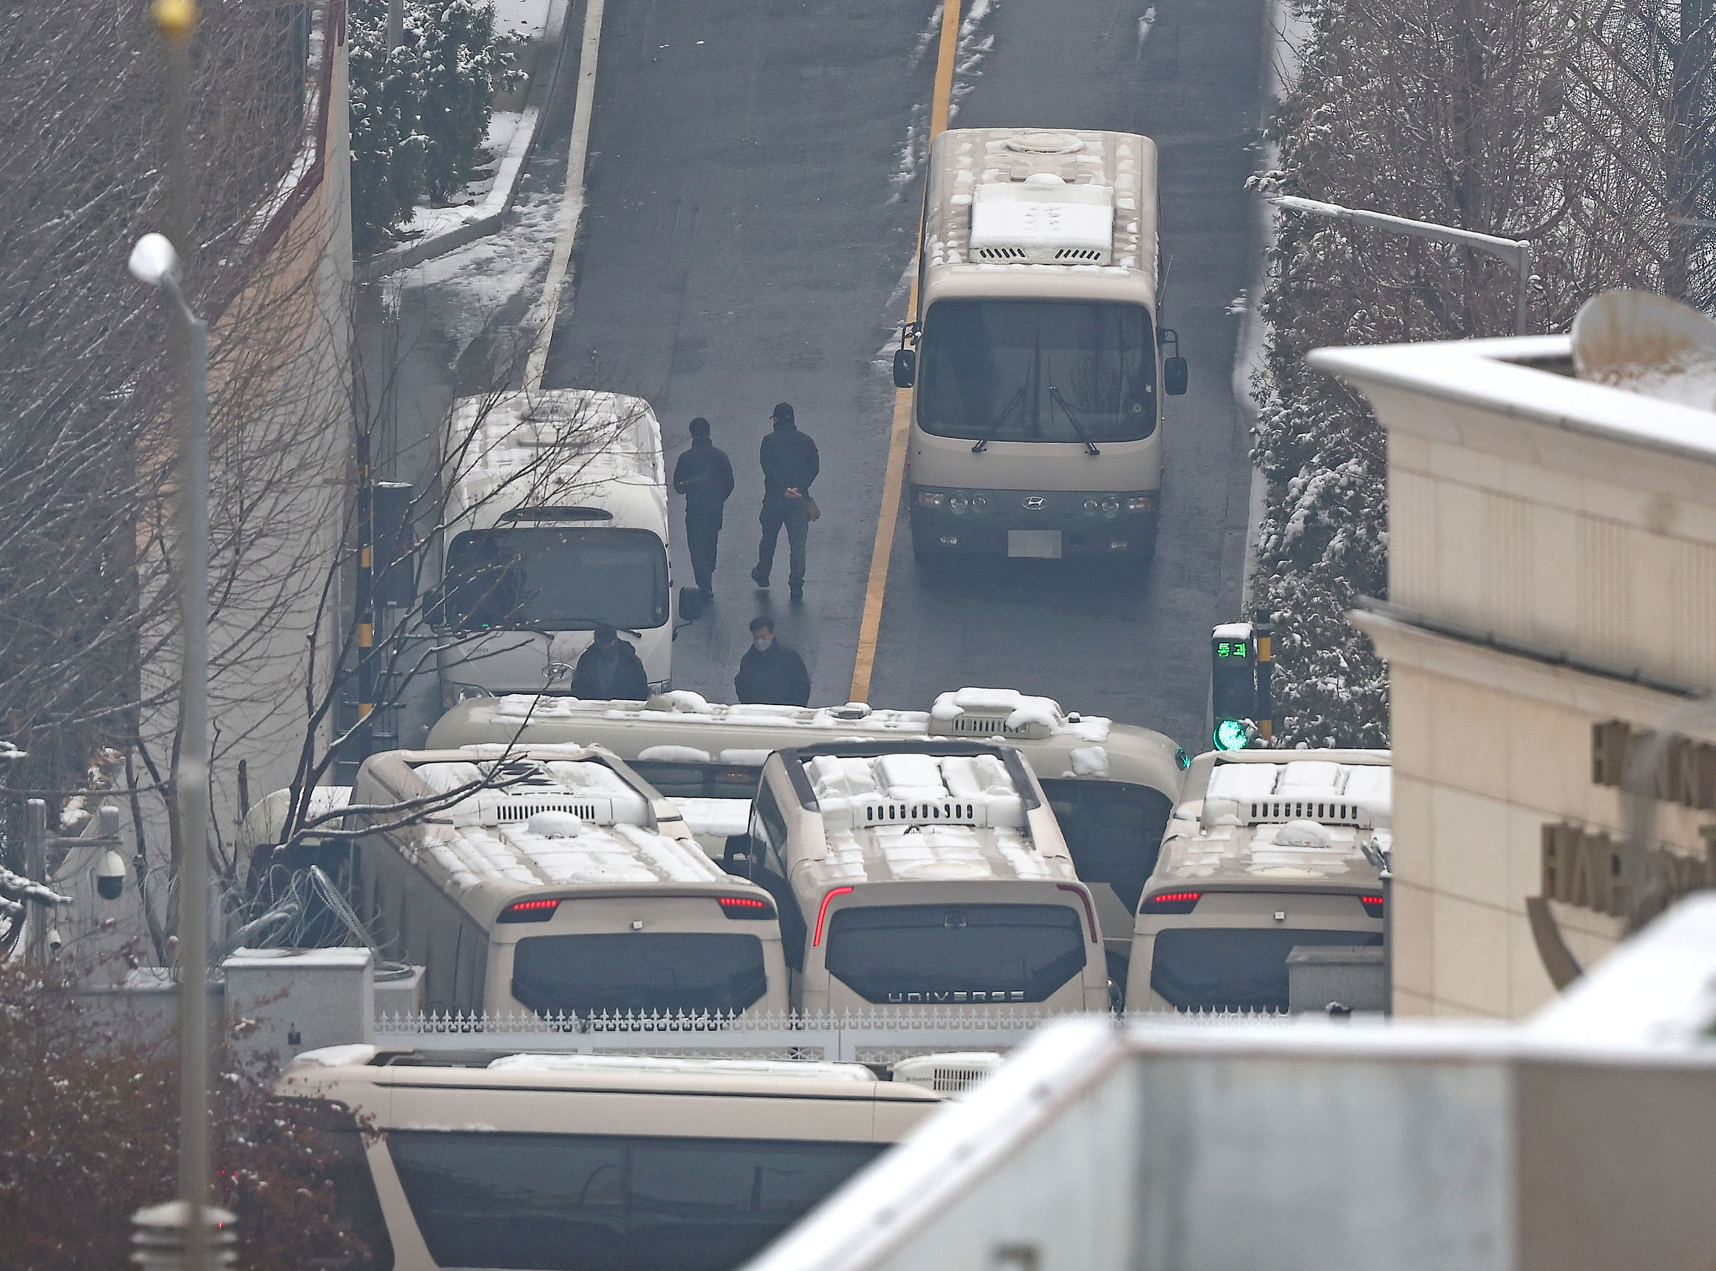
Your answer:
[[[1677,206],[1707,214],[1699,201],[1713,197],[1707,182],[1685,189],[1675,158],[1711,129],[1671,127],[1692,108],[1675,96],[1687,69],[1709,75],[1709,39],[1637,38],[1678,31],[1673,0],[1294,7],[1301,72],[1268,129],[1278,168],[1254,185],[1527,238],[1536,329],[1567,329],[1604,286],[1709,290],[1709,244],[1670,220]],[[1366,403],[1304,355],[1510,334],[1514,276],[1465,249],[1299,213],[1278,230],[1253,384],[1268,503],[1251,595],[1278,621],[1277,736],[1388,744],[1387,672],[1344,621],[1359,597],[1387,599],[1387,443]]]

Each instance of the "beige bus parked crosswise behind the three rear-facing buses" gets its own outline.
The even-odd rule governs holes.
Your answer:
[[[1030,762],[1079,878],[1091,888],[1110,973],[1126,978],[1133,914],[1191,756],[1136,724],[1062,710],[1011,688],[959,688],[928,710],[728,707],[685,690],[647,703],[472,698],[431,729],[432,748],[468,743],[589,743],[623,756],[685,813],[714,856],[743,835],[769,751],[832,739],[995,738]]]

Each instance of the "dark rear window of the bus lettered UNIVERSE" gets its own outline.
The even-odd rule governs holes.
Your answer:
[[[839,909],[829,974],[867,1002],[1045,1002],[1085,967],[1085,914],[1059,904]]]

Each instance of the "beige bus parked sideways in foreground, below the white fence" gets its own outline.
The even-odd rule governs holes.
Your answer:
[[[374,1046],[278,1089],[369,1123],[336,1173],[378,1271],[731,1271],[942,1103],[860,1063]]]

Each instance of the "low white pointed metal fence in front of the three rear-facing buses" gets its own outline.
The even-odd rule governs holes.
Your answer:
[[[892,1063],[961,1050],[1007,1051],[1069,1012],[1018,1007],[887,1009],[837,1014],[752,1012],[719,1015],[376,1015],[371,1041],[424,1053],[541,1051],[556,1055],[657,1055],[674,1058],[782,1058]],[[1119,1019],[1110,1015],[1109,1019]],[[1285,1022],[1266,1012],[1133,1014],[1133,1021],[1191,1026]]]

